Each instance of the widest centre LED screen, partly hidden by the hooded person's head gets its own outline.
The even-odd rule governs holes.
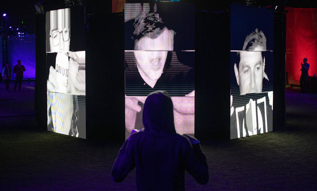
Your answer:
[[[192,3],[126,3],[126,139],[143,129],[146,96],[167,91],[176,132],[194,136],[195,16]]]

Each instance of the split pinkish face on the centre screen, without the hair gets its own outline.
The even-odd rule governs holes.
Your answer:
[[[163,29],[155,39],[143,36],[135,45],[134,56],[141,76],[158,80],[163,72],[168,51],[173,50],[174,31]]]

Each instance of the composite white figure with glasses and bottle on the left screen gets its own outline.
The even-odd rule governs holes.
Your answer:
[[[78,99],[86,95],[85,51],[69,52],[70,9],[50,11],[46,22],[47,52],[57,52],[47,80],[48,130],[86,138]]]

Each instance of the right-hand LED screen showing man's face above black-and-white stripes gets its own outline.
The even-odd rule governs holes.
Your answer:
[[[273,10],[230,7],[230,139],[272,131]]]

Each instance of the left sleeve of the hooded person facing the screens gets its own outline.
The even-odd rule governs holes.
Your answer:
[[[121,182],[135,167],[134,149],[131,140],[126,140],[122,145],[117,159],[112,168],[112,179],[114,182]]]

